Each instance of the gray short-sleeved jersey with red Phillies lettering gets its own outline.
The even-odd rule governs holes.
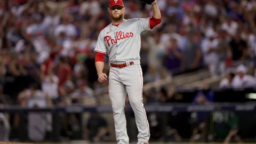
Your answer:
[[[140,33],[150,30],[149,18],[124,20],[101,30],[94,52],[105,53],[109,62],[140,60]]]

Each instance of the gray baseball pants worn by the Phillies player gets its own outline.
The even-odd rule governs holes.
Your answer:
[[[148,142],[150,133],[146,111],[142,101],[142,70],[140,65],[124,68],[110,67],[109,97],[113,108],[117,141],[129,143],[124,114],[125,97],[128,94],[138,127],[138,141]]]

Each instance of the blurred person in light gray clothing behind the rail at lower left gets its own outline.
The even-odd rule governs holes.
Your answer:
[[[38,89],[38,84],[32,83],[29,89],[22,91],[18,100],[21,107],[45,108],[52,106],[48,94]],[[28,114],[28,138],[32,141],[42,141],[47,131],[51,131],[51,114],[31,112]],[[39,130],[39,131],[38,131]]]

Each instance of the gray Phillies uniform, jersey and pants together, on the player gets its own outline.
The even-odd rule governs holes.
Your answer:
[[[124,68],[110,67],[108,92],[114,113],[116,139],[129,144],[124,114],[128,94],[138,127],[138,141],[148,143],[150,133],[147,115],[142,103],[143,77],[140,64],[140,33],[149,30],[149,18],[124,20],[118,27],[112,24],[101,30],[95,52],[108,54],[109,63],[135,65]]]

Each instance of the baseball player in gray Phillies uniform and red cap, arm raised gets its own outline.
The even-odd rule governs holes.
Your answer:
[[[138,144],[149,141],[149,125],[142,101],[142,70],[140,66],[140,33],[161,23],[157,0],[151,3],[153,17],[124,19],[122,0],[110,0],[109,14],[113,20],[101,30],[95,46],[95,67],[98,81],[109,80],[109,97],[113,108],[117,144],[129,143],[124,114],[125,97],[129,96],[138,127]],[[109,58],[109,77],[102,72],[105,54]]]

